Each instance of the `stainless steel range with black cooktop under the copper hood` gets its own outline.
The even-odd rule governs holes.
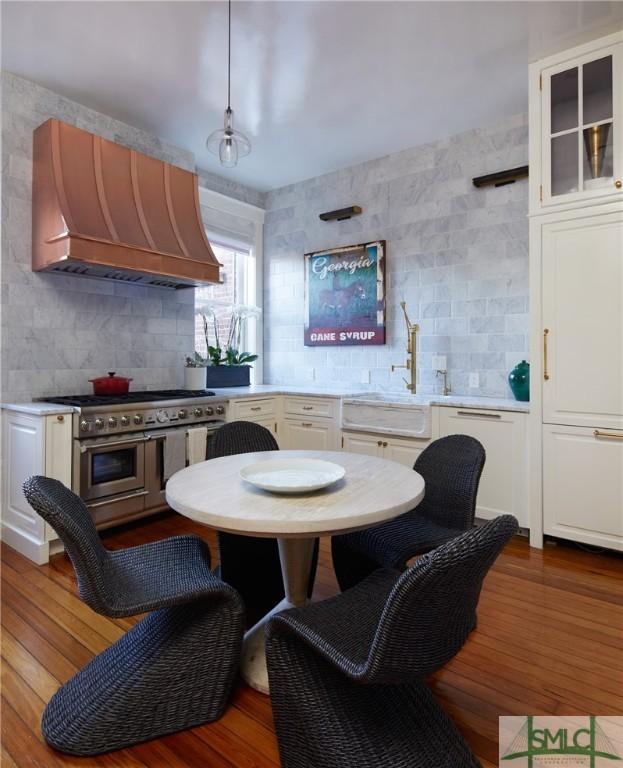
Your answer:
[[[163,390],[125,395],[45,398],[79,409],[73,415],[72,485],[98,528],[166,509],[168,475],[195,460],[227,416],[213,392]],[[203,456],[197,456],[203,452]]]

